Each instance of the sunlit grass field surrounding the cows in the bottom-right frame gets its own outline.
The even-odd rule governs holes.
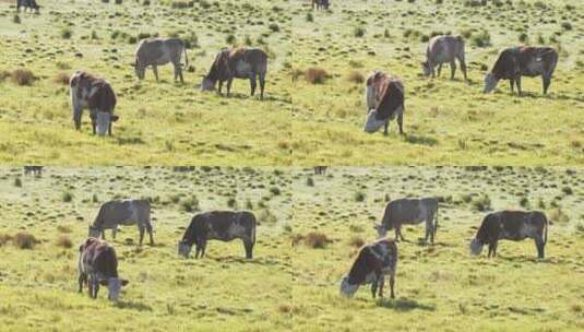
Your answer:
[[[564,168],[337,167],[294,175],[295,331],[581,331],[584,329],[584,173]],[[388,199],[441,198],[436,244],[407,226],[396,298],[338,294],[362,242],[376,239]],[[485,195],[488,198],[485,198]],[[470,257],[487,213],[536,209],[552,221],[546,258],[533,240],[501,241],[497,259]],[[321,234],[326,239],[307,236]],[[393,232],[389,233],[393,238]]]

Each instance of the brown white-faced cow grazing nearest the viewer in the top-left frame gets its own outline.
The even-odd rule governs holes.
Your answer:
[[[99,135],[111,135],[111,123],[119,117],[114,115],[117,99],[109,82],[85,71],[74,72],[69,82],[75,129],[81,129],[83,109],[90,109],[93,133],[97,128]]]

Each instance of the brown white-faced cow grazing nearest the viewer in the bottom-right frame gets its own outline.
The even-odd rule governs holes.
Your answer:
[[[359,250],[357,259],[350,271],[341,280],[341,294],[353,297],[360,285],[371,284],[371,295],[376,298],[379,287],[379,296],[383,297],[383,284],[385,275],[390,275],[391,297],[395,298],[393,286],[397,269],[397,246],[391,239],[380,239],[371,245],[366,245]]]

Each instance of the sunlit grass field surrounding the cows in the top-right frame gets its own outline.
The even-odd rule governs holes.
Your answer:
[[[293,21],[294,164],[582,164],[584,4],[485,2],[335,0],[330,11],[312,12],[303,1]],[[450,81],[448,66],[441,78],[421,75],[428,38],[445,33],[466,37],[468,83],[460,68]],[[523,97],[510,95],[508,82],[484,95],[482,80],[498,52],[521,44],[559,50],[549,95],[541,95],[539,78],[523,80]],[[405,84],[405,137],[395,121],[388,138],[363,132],[361,80],[372,70]]]

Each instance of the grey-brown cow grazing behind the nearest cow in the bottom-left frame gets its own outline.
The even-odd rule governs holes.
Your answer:
[[[144,230],[148,232],[150,245],[154,245],[152,223],[150,218],[150,202],[147,200],[109,201],[102,204],[95,221],[90,225],[90,236],[105,239],[105,230],[111,229],[116,239],[118,225],[138,225],[140,230],[140,246],[144,240]]]

